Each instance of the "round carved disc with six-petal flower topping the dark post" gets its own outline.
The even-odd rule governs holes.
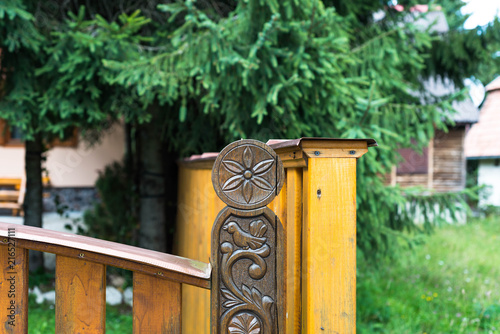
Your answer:
[[[238,209],[269,204],[283,186],[283,164],[274,150],[253,140],[226,146],[217,156],[212,183],[219,198]]]

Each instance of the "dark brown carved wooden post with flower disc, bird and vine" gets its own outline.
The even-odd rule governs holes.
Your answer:
[[[212,228],[212,334],[283,333],[285,234],[266,207],[283,179],[279,157],[256,140],[228,145],[215,161],[214,189],[228,206]]]

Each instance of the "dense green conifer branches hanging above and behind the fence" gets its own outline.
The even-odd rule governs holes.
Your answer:
[[[15,24],[0,23],[7,32],[2,48],[42,50],[33,62],[23,51],[19,59],[36,80],[6,90],[0,116],[24,124],[42,115],[51,133],[70,124],[98,127],[120,115],[151,121],[161,124],[164,145],[178,156],[240,138],[374,138],[380,146],[358,164],[358,245],[366,256],[390,253],[394,236],[417,229],[416,215],[425,217],[418,228],[427,230],[439,209],[457,211],[461,195],[421,196],[384,185],[382,177],[399,161],[398,148],[415,140],[421,149],[451,124],[443,111],[461,93],[423,105],[416,93],[424,78],[460,83],[476,71],[494,71],[492,47],[481,47],[493,27],[478,34],[449,19],[450,32],[437,34],[409,19],[425,14],[371,0],[186,0],[148,2],[142,12],[122,2],[109,2],[114,9],[68,8],[72,13],[50,33],[25,30],[33,30],[29,43]],[[459,3],[445,1],[446,15]],[[32,22],[29,10],[15,8],[13,20]],[[385,16],[375,20],[378,11]],[[13,80],[23,78],[15,73]],[[30,103],[37,108],[23,112]]]

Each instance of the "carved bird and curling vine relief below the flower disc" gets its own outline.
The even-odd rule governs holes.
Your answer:
[[[263,295],[257,288],[248,287],[242,283],[239,288],[232,275],[233,266],[242,259],[249,259],[252,264],[248,274],[254,280],[262,279],[267,272],[264,258],[271,252],[264,237],[268,229],[266,223],[254,220],[250,223],[249,231],[244,231],[235,221],[228,221],[222,227],[232,235],[231,242],[223,242],[220,246],[222,253],[221,269],[221,294],[225,298],[222,306],[227,310],[222,314],[222,328],[227,328],[223,333],[231,334],[258,334],[272,333],[272,313],[275,305],[270,296]]]

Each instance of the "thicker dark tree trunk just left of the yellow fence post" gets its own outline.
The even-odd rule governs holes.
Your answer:
[[[160,107],[150,107],[152,121],[140,126],[139,247],[166,252],[165,173]]]

